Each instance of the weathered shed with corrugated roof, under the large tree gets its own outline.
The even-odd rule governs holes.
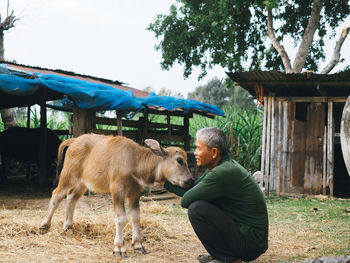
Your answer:
[[[350,196],[340,145],[350,70],[332,75],[227,74],[264,105],[261,184],[268,192]]]

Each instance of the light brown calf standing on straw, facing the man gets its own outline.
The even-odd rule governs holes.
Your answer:
[[[186,153],[178,147],[163,149],[155,140],[145,140],[149,148],[122,136],[85,134],[61,143],[58,165],[63,162],[57,188],[52,192],[47,217],[41,230],[48,230],[52,216],[67,196],[66,220],[63,229],[72,226],[77,200],[88,189],[96,193],[111,193],[115,212],[116,235],[113,253],[126,257],[123,227],[126,223],[125,198],[129,201],[132,219],[132,245],[146,253],[140,236],[139,200],[142,190],[155,182],[168,180],[188,187],[192,176]]]

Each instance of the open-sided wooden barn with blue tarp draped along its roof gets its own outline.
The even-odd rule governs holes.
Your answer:
[[[186,151],[190,151],[189,118],[193,114],[206,117],[224,115],[224,112],[214,105],[148,94],[118,81],[16,63],[0,64],[0,109],[40,105],[42,149],[45,149],[46,145],[46,107],[50,101],[59,99],[62,99],[63,105],[55,107],[72,110],[73,127],[70,131],[55,131],[58,134],[69,133],[74,137],[90,132],[118,134],[137,142],[152,138],[167,146],[181,144]],[[115,111],[115,117],[99,117],[96,114],[106,110]],[[125,118],[130,113],[143,116],[138,120]],[[165,115],[167,123],[154,123],[149,119],[149,114]],[[172,124],[172,116],[182,117],[183,124]],[[101,130],[97,128],[98,124],[115,126],[115,129]],[[41,164],[45,163],[45,156],[42,158]],[[45,170],[40,167],[40,171],[39,183],[45,184]]]

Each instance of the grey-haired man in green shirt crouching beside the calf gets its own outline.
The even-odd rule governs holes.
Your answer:
[[[268,215],[254,178],[229,156],[226,135],[216,127],[196,134],[198,166],[207,170],[190,189],[169,182],[165,188],[182,196],[192,227],[208,255],[202,263],[242,262],[258,258],[268,247]]]

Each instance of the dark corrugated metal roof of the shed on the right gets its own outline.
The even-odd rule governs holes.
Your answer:
[[[263,88],[264,94],[276,96],[348,96],[350,95],[350,70],[335,74],[313,72],[286,74],[280,71],[227,72],[237,85],[255,96],[255,88]]]

